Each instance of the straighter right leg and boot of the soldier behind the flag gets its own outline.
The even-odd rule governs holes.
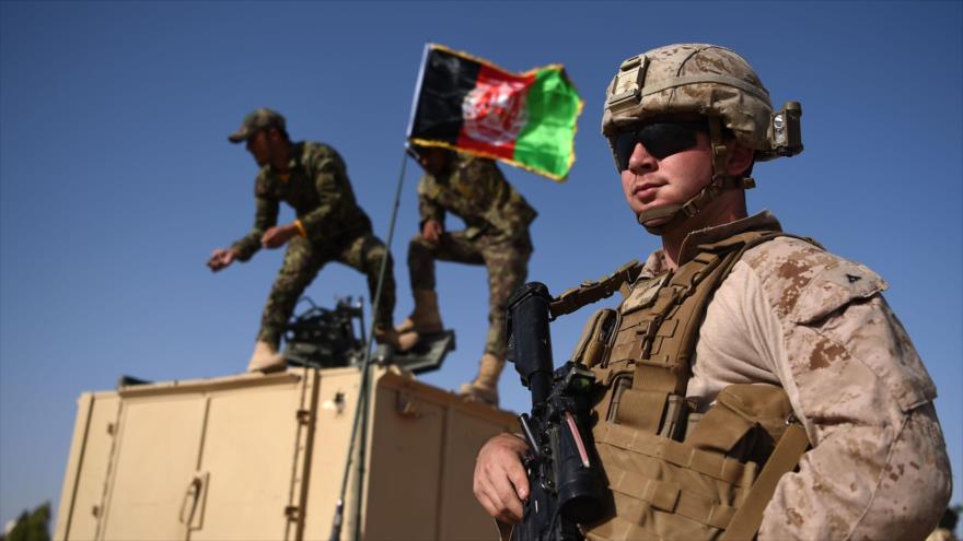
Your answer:
[[[498,405],[498,378],[504,367],[507,349],[506,308],[511,294],[525,282],[532,243],[525,234],[514,243],[485,246],[483,254],[488,268],[488,336],[478,375],[474,381],[463,385],[460,393]]]

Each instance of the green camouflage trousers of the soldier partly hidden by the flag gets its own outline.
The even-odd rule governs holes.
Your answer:
[[[504,310],[508,299],[525,282],[532,257],[529,232],[512,239],[479,235],[468,238],[464,232],[444,233],[432,245],[416,234],[408,245],[408,271],[411,290],[434,289],[434,261],[484,264],[488,269],[488,336],[485,352],[504,357]]]

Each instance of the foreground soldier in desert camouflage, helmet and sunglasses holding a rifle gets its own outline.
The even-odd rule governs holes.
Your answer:
[[[802,150],[799,115],[712,45],[633,57],[608,87],[602,132],[662,248],[582,358],[612,494],[589,539],[923,539],[949,499],[936,387],[886,283],[746,212],[753,163]],[[500,435],[479,451],[475,494],[507,522],[526,447]]]

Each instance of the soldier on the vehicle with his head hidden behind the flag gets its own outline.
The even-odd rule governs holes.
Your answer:
[[[398,332],[440,332],[434,261],[484,264],[488,269],[488,337],[478,376],[459,392],[498,404],[498,377],[504,366],[504,309],[525,281],[532,240],[529,224],[537,212],[504,179],[491,160],[450,150],[416,146],[427,173],[418,183],[420,232],[408,246],[415,309]],[[444,214],[464,220],[465,231],[446,232]]]

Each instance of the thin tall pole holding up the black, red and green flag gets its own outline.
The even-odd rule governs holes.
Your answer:
[[[352,494],[352,503],[355,505],[355,524],[352,527],[352,537],[355,541],[361,539],[361,498],[364,494],[364,459],[366,447],[368,444],[368,410],[371,407],[371,339],[374,336],[374,325],[378,318],[378,306],[381,303],[382,286],[384,284],[384,274],[387,270],[387,259],[391,255],[391,245],[395,235],[395,224],[398,219],[398,208],[402,201],[402,187],[405,184],[405,168],[408,164],[408,143],[407,136],[411,133],[411,127],[415,121],[415,113],[418,104],[418,94],[421,91],[421,80],[425,73],[425,62],[431,44],[425,44],[425,51],[421,55],[421,68],[418,70],[418,82],[415,86],[415,97],[411,101],[411,116],[408,119],[408,129],[405,137],[405,149],[402,152],[402,166],[398,173],[397,188],[395,189],[395,200],[392,208],[392,216],[387,227],[387,238],[385,238],[385,257],[381,260],[381,268],[378,272],[378,287],[374,290],[374,301],[372,303],[372,321],[369,326],[368,336],[364,341],[364,360],[361,363],[361,383],[358,386],[358,400],[355,405],[355,419],[351,422],[351,437],[348,440],[348,457],[345,460],[345,473],[341,478],[341,489],[338,493],[338,499],[335,504],[335,516],[332,520],[332,531],[329,541],[340,541],[341,524],[345,518],[345,493],[348,491],[348,479],[351,474],[351,462],[355,455],[355,442],[360,440],[358,445],[358,466],[357,480],[355,482],[355,491]]]

